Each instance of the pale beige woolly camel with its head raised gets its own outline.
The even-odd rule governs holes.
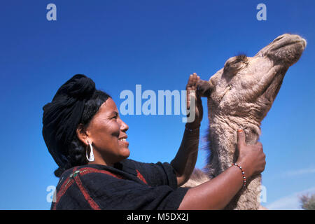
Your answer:
[[[208,99],[210,155],[204,172],[193,172],[183,187],[213,179],[236,162],[239,128],[246,134],[246,144],[257,143],[262,119],[271,108],[286,71],[300,59],[306,45],[307,41],[298,35],[283,34],[255,56],[231,57],[209,81],[200,80],[197,91]],[[225,209],[260,209],[260,185],[261,174],[247,179],[246,187]]]

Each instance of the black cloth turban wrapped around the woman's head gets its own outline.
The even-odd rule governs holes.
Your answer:
[[[59,87],[51,103],[43,106],[43,139],[59,167],[65,167],[69,144],[83,115],[85,102],[90,99],[95,83],[77,74]]]

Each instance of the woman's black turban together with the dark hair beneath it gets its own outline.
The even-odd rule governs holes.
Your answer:
[[[59,87],[52,102],[43,106],[43,139],[59,168],[55,176],[71,167],[87,164],[85,145],[76,134],[86,128],[109,94],[95,88],[92,79],[76,74]]]

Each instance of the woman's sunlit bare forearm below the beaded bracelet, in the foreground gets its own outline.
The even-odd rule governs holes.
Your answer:
[[[183,197],[180,210],[224,209],[243,186],[243,176],[232,166],[200,186],[190,188]]]

